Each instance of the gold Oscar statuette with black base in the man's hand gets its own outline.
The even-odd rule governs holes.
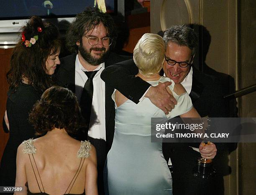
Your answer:
[[[206,130],[210,129],[210,118],[207,118],[207,127]],[[207,140],[207,138],[204,138],[203,145],[210,144],[210,141]],[[209,178],[214,176],[216,173],[216,170],[212,166],[212,160],[207,160],[205,158],[198,158],[197,159],[197,166],[194,168],[194,176],[199,178]]]

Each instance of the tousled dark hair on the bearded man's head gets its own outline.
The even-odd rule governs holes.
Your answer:
[[[70,52],[78,52],[76,42],[81,42],[83,35],[100,23],[105,26],[107,36],[113,39],[110,49],[114,48],[117,38],[117,27],[113,18],[107,13],[100,12],[97,7],[87,7],[82,13],[77,14],[74,22],[69,26],[66,43]]]

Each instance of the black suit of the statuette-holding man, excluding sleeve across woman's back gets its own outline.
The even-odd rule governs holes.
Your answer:
[[[215,77],[193,68],[192,90],[189,96],[201,117],[228,117],[228,110],[225,110],[225,102],[220,91],[220,82]],[[174,166],[172,174],[174,195],[224,194],[223,175],[228,175],[230,171],[228,145],[226,143],[215,143],[215,145],[218,151],[213,159],[213,165],[217,174],[212,178],[201,179],[193,175],[197,159],[201,158],[201,155],[189,147],[198,148],[199,143],[163,143],[164,156],[170,157]]]

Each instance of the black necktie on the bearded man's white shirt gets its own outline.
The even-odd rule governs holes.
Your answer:
[[[91,110],[92,110],[92,96],[93,96],[92,79],[97,72],[98,70],[84,72],[87,75],[88,79],[84,84],[84,89],[80,99],[80,106],[81,106],[82,115],[87,122],[88,128],[89,128]]]

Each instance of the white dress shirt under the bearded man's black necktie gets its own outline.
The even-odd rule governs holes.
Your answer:
[[[97,121],[89,129],[88,136],[95,139],[106,140],[105,127],[105,82],[100,78],[100,74],[105,67],[105,63],[101,63],[95,70],[99,70],[93,77],[93,97],[92,109],[95,110]],[[86,70],[79,61],[78,55],[75,62],[75,90],[77,99],[80,101],[84,88],[84,83],[88,77],[84,73]]]

